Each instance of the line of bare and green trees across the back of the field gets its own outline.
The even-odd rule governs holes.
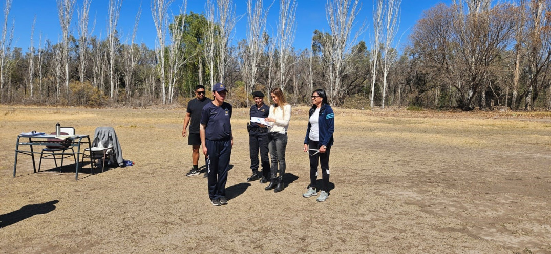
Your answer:
[[[174,0],[151,0],[154,48],[136,43],[142,10],[131,34],[116,30],[122,0],[109,1],[105,36],[92,35],[91,0],[57,0],[60,42],[36,36],[35,19],[25,53],[12,45],[12,1],[3,8],[1,103],[143,107],[182,103],[196,85],[223,82],[235,107],[249,106],[254,90],[279,87],[293,104],[309,104],[312,91],[323,88],[331,104],[350,108],[551,110],[546,0],[440,3],[425,10],[404,43],[397,34],[401,0],[375,0],[369,26],[358,20],[359,0],[328,0],[329,30],[312,31],[304,49],[292,47],[296,0],[273,3],[279,18],[271,31],[273,4],[262,0],[248,0],[243,16],[231,0],[208,0],[201,14],[187,12],[183,2],[175,15]],[[78,27],[71,29],[74,17]],[[246,38],[233,44],[240,19]]]

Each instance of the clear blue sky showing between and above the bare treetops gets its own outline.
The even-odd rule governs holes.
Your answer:
[[[402,36],[401,45],[406,43],[407,35],[412,30],[415,22],[420,18],[423,11],[433,7],[434,5],[444,2],[449,3],[451,0],[402,0],[402,12],[399,36]],[[372,24],[372,0],[360,0],[362,8],[358,18],[358,24],[364,20],[368,24],[368,30],[360,35],[359,40],[368,41],[370,25]],[[2,6],[4,1],[1,1]],[[108,0],[92,0],[90,5],[90,26],[94,19],[96,24],[93,34],[105,38],[106,20],[107,20],[107,5]],[[175,14],[179,10],[181,1],[175,0],[172,3],[172,12]],[[195,13],[204,12],[205,1],[188,0],[187,11]],[[246,0],[234,0],[236,15],[246,14]],[[264,5],[267,7],[271,1],[264,0]],[[276,29],[278,24],[278,3],[272,5],[268,14],[267,29]],[[325,0],[298,0],[296,10],[296,35],[294,41],[295,48],[309,47],[314,30],[328,31],[327,20],[325,16]],[[125,41],[127,35],[132,32],[134,20],[139,7],[142,7],[142,17],[138,25],[137,42],[145,43],[148,47],[155,46],[156,33],[155,26],[150,9],[150,0],[123,0],[121,8],[121,16],[118,21],[117,30],[121,32],[121,41]],[[82,0],[77,0],[77,8],[82,7]],[[0,13],[3,17],[3,14]],[[23,48],[26,52],[30,45],[30,31],[33,24],[34,16],[36,15],[36,25],[34,33],[34,46],[39,45],[39,36],[42,33],[42,40],[48,39],[53,43],[60,41],[61,26],[57,16],[56,0],[15,0],[12,4],[12,10],[9,14],[9,22],[15,21],[14,41],[13,45]],[[3,20],[3,18],[2,18]],[[237,24],[234,35],[234,43],[246,38],[247,20],[243,16]],[[73,14],[71,25],[72,33],[78,37],[77,27],[77,12]],[[44,43],[42,43],[44,45]]]

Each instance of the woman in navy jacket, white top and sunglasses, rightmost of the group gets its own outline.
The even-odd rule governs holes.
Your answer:
[[[312,108],[306,137],[304,138],[304,152],[310,155],[310,185],[303,197],[317,196],[316,180],[318,160],[321,164],[322,187],[318,202],[327,199],[329,185],[329,153],[333,145],[335,131],[335,114],[327,102],[327,95],[323,89],[312,93]]]

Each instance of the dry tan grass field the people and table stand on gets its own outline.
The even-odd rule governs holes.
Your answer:
[[[1,107],[0,252],[551,253],[549,113],[337,108],[333,189],[319,203],[301,197],[307,108],[293,109],[279,193],[246,182],[248,115],[236,109],[229,204],[214,207],[206,179],[185,176],[184,112]],[[91,175],[87,163],[75,181],[72,162],[34,174],[19,156],[12,178],[17,135],[56,122],[91,136],[113,126],[136,165]]]

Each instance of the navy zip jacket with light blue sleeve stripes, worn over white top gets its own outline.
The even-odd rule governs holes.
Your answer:
[[[315,109],[310,109],[310,114],[308,119],[314,114]],[[335,132],[335,114],[331,106],[323,103],[320,109],[320,116],[318,117],[318,134],[320,135],[320,141],[318,145],[321,146],[332,146],[333,145],[333,132]],[[306,129],[306,137],[304,138],[304,143],[308,143],[308,135],[310,135],[310,120],[308,121],[308,129]]]

